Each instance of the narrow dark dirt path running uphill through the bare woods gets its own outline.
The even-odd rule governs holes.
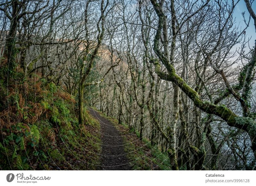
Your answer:
[[[132,170],[129,161],[125,157],[124,143],[113,123],[102,117],[92,108],[88,108],[90,114],[99,120],[102,141],[100,170]]]

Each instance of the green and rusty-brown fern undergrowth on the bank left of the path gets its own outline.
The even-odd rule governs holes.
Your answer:
[[[0,80],[1,170],[94,170],[99,163],[100,124],[76,100],[36,75],[6,86]]]

